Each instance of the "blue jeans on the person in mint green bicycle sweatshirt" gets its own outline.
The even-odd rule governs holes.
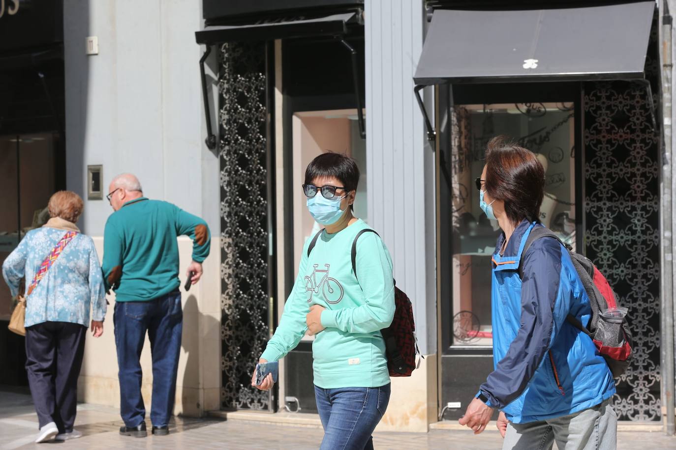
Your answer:
[[[371,434],[389,402],[389,383],[381,387],[314,387],[324,427],[320,450],[372,450]]]

